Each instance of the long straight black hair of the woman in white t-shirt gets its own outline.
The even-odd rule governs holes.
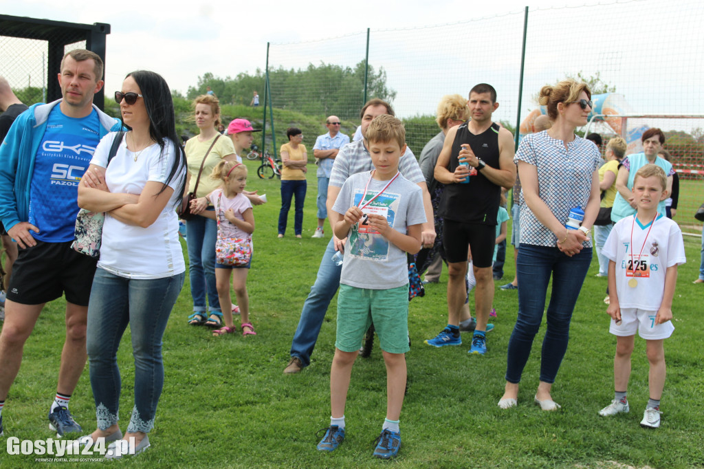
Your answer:
[[[175,189],[177,194],[181,195],[186,185],[186,172],[182,172],[182,169],[186,166],[186,154],[176,134],[176,117],[169,85],[166,84],[161,75],[149,70],[137,70],[128,73],[127,77],[132,77],[132,80],[137,83],[139,90],[142,92],[146,114],[149,115],[149,136],[158,144],[162,152],[165,147],[164,139],[168,139],[176,151],[176,158],[174,158],[174,163],[166,178],[166,182],[164,182],[161,191],[156,195],[164,192],[166,187],[168,187],[168,183],[175,180],[179,173],[183,173],[181,181]],[[120,117],[120,119],[122,118]],[[130,128],[124,122],[122,122],[122,125]],[[174,206],[179,206],[181,200],[182,196],[179,196]]]

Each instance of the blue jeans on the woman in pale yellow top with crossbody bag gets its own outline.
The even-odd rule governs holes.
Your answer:
[[[195,216],[186,222],[188,246],[188,276],[191,282],[193,311],[218,311],[220,300],[215,286],[215,239],[218,223],[210,218]],[[206,292],[208,306],[206,308]]]

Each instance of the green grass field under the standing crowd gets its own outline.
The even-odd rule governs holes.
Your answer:
[[[315,171],[308,173],[303,239],[293,237],[293,213],[284,239],[276,238],[280,206],[278,180],[256,178],[248,161],[249,188],[268,194],[255,209],[255,253],[249,273],[252,320],[258,335],[210,337],[210,330],[186,323],[191,311],[188,284],[164,337],[165,388],[152,447],[124,467],[149,468],[367,468],[386,463],[372,458],[386,407],[386,377],[378,345],[353,368],[346,409],[347,439],[332,454],[315,450],[315,432],[329,424],[329,367],[334,352],[335,301],[331,304],[312,363],[298,375],[283,375],[301,306],[325,249],[310,239],[315,229]],[[510,225],[510,224],[509,224]],[[390,464],[402,468],[651,468],[704,467],[704,373],[701,313],[704,285],[693,285],[699,264],[698,239],[686,237],[688,263],[679,269],[673,311],[677,330],[665,346],[668,366],[662,398],[662,426],[639,427],[648,400],[645,343],[636,339],[629,386],[631,413],[601,418],[613,392],[615,338],[608,333],[602,302],[606,281],[594,277],[596,258],[584,282],[572,320],[572,338],[553,398],[562,411],[543,413],[533,404],[538,382],[541,327],[525,369],[517,408],[502,411],[506,347],[517,312],[515,292],[496,290],[496,329],[486,356],[467,354],[470,338],[458,347],[423,344],[446,324],[446,273],[410,304],[413,346],[407,354],[409,387],[401,413],[403,446]],[[505,276],[513,278],[509,249]],[[44,310],[25,346],[23,367],[4,409],[6,437],[46,439],[46,413],[56,391],[58,352],[63,343],[63,301]],[[120,426],[133,406],[129,332],[118,354],[122,371]],[[378,342],[377,342],[378,344]],[[1,364],[0,364],[1,365]],[[71,401],[85,429],[95,413],[87,367]],[[29,468],[36,456],[9,456],[1,468]],[[84,465],[87,463],[84,463]],[[62,467],[74,463],[65,463]],[[75,463],[80,465],[80,463]]]

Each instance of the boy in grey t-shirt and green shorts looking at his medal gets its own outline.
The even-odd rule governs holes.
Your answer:
[[[345,402],[352,365],[370,324],[379,336],[386,364],[386,419],[373,456],[393,458],[401,446],[398,417],[406,389],[408,349],[408,265],[406,253],[420,251],[425,223],[420,187],[398,173],[406,151],[406,130],[391,115],[370,123],[367,142],[374,170],[352,175],[333,211],[334,225],[347,238],[337,298],[337,340],[330,370],[332,416],[320,451],[333,451],[345,437]]]

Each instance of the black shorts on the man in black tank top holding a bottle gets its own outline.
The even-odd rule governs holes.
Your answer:
[[[443,220],[442,244],[448,262],[467,261],[467,246],[472,249],[474,267],[491,267],[496,244],[496,225]]]

